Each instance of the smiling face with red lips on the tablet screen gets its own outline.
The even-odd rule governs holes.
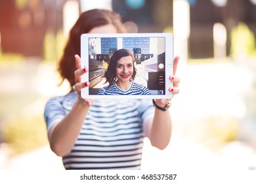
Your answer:
[[[116,76],[117,82],[129,82],[133,75],[133,58],[125,56],[117,61]]]

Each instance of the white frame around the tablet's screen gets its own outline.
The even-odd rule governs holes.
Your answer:
[[[89,72],[89,39],[91,38],[100,40],[101,38],[157,38],[157,40],[161,39],[161,44],[164,44],[161,46],[164,46],[165,49],[165,90],[163,91],[163,93],[165,94],[152,93],[152,95],[96,95],[91,94],[89,92],[89,87],[86,87],[81,90],[81,97],[83,97],[83,99],[169,99],[173,97],[173,94],[169,92],[169,88],[173,87],[173,82],[169,80],[169,76],[173,75],[173,35],[171,33],[84,33],[83,35],[81,35],[81,68],[88,67]],[[89,72],[81,76],[81,82],[89,81]]]

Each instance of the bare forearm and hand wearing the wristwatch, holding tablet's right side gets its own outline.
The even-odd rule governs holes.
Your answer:
[[[173,62],[173,74],[177,71],[177,64],[179,57],[176,57]],[[179,78],[170,76],[169,79],[173,82],[173,88],[169,88],[169,92],[173,94],[179,93]],[[156,105],[164,108],[166,103],[170,101],[167,99],[156,99]],[[171,139],[171,115],[169,110],[162,111],[155,108],[154,118],[150,118],[146,122],[146,136],[150,139],[152,146],[163,150],[169,144]]]

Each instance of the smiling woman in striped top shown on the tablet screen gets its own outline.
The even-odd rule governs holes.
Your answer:
[[[100,89],[98,95],[151,95],[150,90],[133,80],[136,75],[135,58],[126,49],[119,49],[110,58],[104,75],[108,86]]]

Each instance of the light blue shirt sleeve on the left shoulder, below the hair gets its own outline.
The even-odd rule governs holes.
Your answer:
[[[62,107],[62,102],[58,97],[54,97],[47,101],[44,112],[47,132],[49,132],[53,124],[60,122],[64,116],[66,116],[66,111],[64,107]]]

